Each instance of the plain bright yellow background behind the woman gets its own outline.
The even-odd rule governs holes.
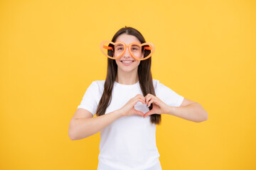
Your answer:
[[[124,26],[154,43],[153,79],[208,120],[163,115],[164,170],[256,169],[256,1],[1,1],[0,169],[97,169],[100,133],[68,137],[100,42]]]

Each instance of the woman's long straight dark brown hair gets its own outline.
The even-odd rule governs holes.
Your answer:
[[[127,35],[134,35],[138,38],[138,40],[141,43],[146,42],[144,37],[141,33],[139,33],[139,30],[136,30],[132,27],[125,26],[124,28],[121,28],[117,31],[117,33],[114,34],[114,37],[112,38],[112,42],[115,42],[117,40],[117,37],[121,34],[127,34]],[[112,46],[110,44],[109,46]],[[144,57],[148,55],[150,52],[149,50],[144,50]],[[108,50],[108,55],[113,56],[112,51]],[[151,74],[151,57],[149,57],[147,60],[142,60],[139,63],[138,67],[138,74],[139,74],[139,86],[142,89],[143,96],[146,96],[146,94],[153,94],[156,96],[152,81],[152,74]],[[107,58],[107,77],[104,84],[104,91],[102,94],[102,97],[100,98],[100,103],[97,106],[96,115],[104,115],[105,111],[108,106],[110,106],[111,98],[112,98],[112,89],[114,86],[114,81],[117,77],[117,63]],[[149,107],[149,110],[152,109],[152,104]],[[150,121],[151,123],[154,123],[156,125],[159,125],[161,123],[161,115],[159,114],[153,114],[150,115]]]

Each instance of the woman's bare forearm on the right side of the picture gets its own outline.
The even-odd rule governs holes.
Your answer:
[[[175,115],[178,118],[191,120],[196,123],[208,120],[208,113],[203,109],[200,103],[191,103],[183,107],[170,107],[169,115]]]

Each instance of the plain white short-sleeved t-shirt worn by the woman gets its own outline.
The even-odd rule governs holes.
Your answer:
[[[78,108],[84,108],[95,115],[104,90],[105,80],[93,81],[87,88]],[[156,96],[169,106],[179,107],[183,96],[153,79]],[[122,108],[131,98],[142,94],[137,84],[124,85],[114,81],[112,101],[105,114]],[[143,94],[142,94],[143,95]],[[146,113],[149,108],[138,102],[135,109]],[[97,170],[160,170],[160,154],[156,147],[156,125],[150,123],[150,116],[124,116],[100,131],[100,154]]]

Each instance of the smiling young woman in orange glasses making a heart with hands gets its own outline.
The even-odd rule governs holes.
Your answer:
[[[161,114],[194,122],[207,120],[208,114],[201,104],[152,79],[154,45],[138,30],[121,28],[100,47],[108,57],[107,78],[87,88],[69,137],[80,140],[100,132],[98,170],[161,169],[155,136]]]

